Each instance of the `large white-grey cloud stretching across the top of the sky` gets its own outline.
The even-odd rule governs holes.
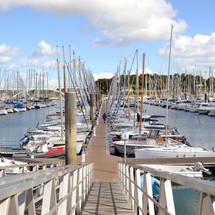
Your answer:
[[[183,32],[187,24],[176,20],[176,11],[165,0],[12,0],[0,2],[0,10],[29,6],[55,16],[84,16],[97,29],[100,37],[94,44],[125,46],[132,41],[166,39],[173,24],[175,32]],[[44,42],[44,41],[43,41]],[[45,42],[42,50],[51,53]]]

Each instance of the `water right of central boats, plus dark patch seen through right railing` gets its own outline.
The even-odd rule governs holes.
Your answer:
[[[149,115],[166,115],[166,108],[145,105]],[[215,118],[198,113],[190,113],[174,109],[168,110],[168,124],[181,131],[192,146],[205,148],[215,147]],[[162,120],[165,123],[165,119]],[[209,178],[208,178],[209,179]],[[214,181],[214,176],[211,176]],[[199,208],[200,193],[196,190],[184,187],[174,187],[173,196],[177,215],[197,215]]]

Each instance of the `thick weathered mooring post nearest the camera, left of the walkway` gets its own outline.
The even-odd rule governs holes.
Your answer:
[[[65,152],[66,165],[77,164],[76,94],[65,93]]]

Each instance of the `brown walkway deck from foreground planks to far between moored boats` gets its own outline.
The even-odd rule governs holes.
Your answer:
[[[102,120],[104,110],[103,102],[96,125],[96,135],[92,137],[86,153],[86,163],[94,163],[95,183],[81,214],[134,214],[118,184],[117,162],[120,158],[108,152],[106,124]]]

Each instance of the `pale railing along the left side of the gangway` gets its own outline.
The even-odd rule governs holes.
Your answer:
[[[0,178],[0,214],[76,214],[94,181],[93,164]]]

